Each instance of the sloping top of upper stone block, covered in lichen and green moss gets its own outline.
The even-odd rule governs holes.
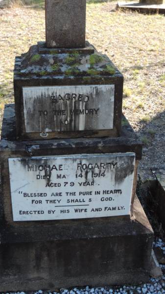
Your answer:
[[[71,67],[73,67],[71,69]],[[88,72],[89,71],[89,72]],[[116,73],[112,62],[103,55],[97,53],[78,53],[71,50],[71,53],[58,53],[48,51],[39,54],[38,47],[31,46],[29,51],[19,57],[19,64],[15,74],[23,76],[108,76]],[[118,71],[117,71],[118,73]]]

